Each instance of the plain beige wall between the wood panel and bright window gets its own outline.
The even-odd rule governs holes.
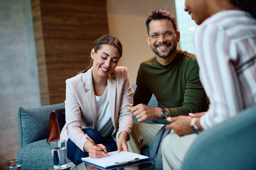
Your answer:
[[[123,45],[118,65],[128,68],[132,83],[136,83],[139,63],[154,56],[146,41],[145,22],[148,13],[158,8],[176,16],[175,0],[107,0],[109,34],[117,36]]]

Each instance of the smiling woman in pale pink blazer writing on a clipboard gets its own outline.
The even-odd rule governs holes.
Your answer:
[[[66,80],[66,124],[60,139],[68,140],[71,161],[128,151],[133,116],[127,107],[133,105],[133,89],[127,68],[117,67],[121,56],[119,40],[102,36],[93,45],[91,65]]]

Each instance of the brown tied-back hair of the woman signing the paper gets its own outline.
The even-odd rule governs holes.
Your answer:
[[[93,48],[94,48],[95,53],[97,53],[97,51],[100,50],[102,48],[102,46],[105,45],[105,44],[112,45],[113,47],[116,47],[117,50],[120,53],[120,57],[122,56],[122,52],[123,52],[122,44],[117,39],[117,37],[114,36],[114,35],[104,35],[104,36],[100,37],[99,39],[97,39],[94,42],[94,44],[93,44]],[[91,58],[91,56],[89,57],[89,62],[90,62],[90,64],[85,69],[83,69],[82,71],[78,72],[77,74],[85,73],[85,72],[87,72],[87,70],[89,70],[89,68],[92,67],[93,59]]]

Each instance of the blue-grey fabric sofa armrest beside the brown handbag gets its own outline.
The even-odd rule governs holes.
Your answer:
[[[20,107],[18,110],[20,146],[46,139],[51,112],[63,107],[65,107],[64,102],[31,109]]]

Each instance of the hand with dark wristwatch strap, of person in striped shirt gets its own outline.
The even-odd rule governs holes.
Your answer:
[[[190,127],[190,122],[193,118],[190,116],[177,116],[177,117],[167,117],[167,121],[171,124],[166,125],[166,129],[173,129],[174,132],[179,136],[184,136],[194,133]]]

